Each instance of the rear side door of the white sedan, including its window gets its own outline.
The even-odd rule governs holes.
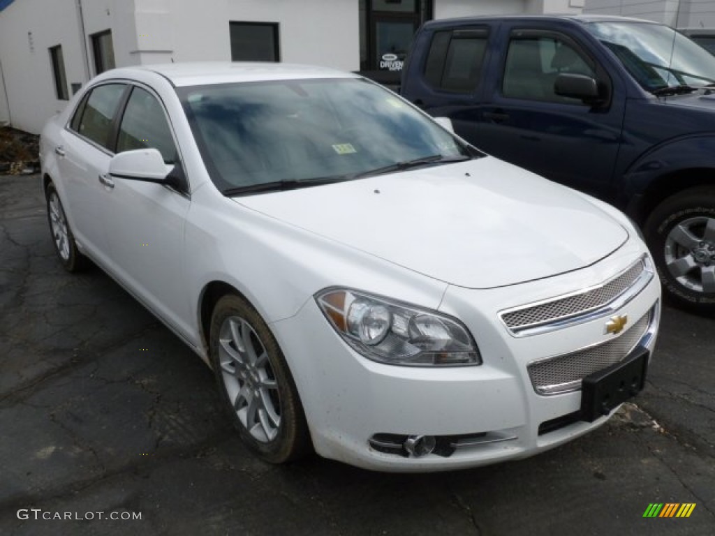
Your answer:
[[[54,148],[74,235],[105,265],[110,254],[105,221],[108,187],[104,182],[113,154],[114,118],[126,90],[126,84],[115,83],[91,89]]]

